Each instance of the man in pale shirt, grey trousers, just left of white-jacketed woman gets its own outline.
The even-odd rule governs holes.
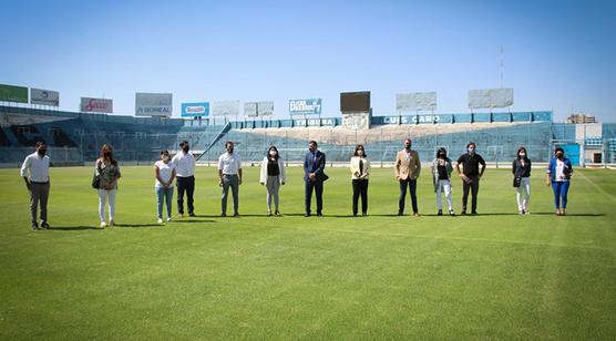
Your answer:
[[[227,142],[225,148],[227,152],[218,157],[218,185],[223,187],[222,195],[222,217],[227,216],[227,197],[229,187],[233,194],[234,217],[239,216],[239,185],[242,185],[242,159],[239,155],[233,153],[233,142]]]

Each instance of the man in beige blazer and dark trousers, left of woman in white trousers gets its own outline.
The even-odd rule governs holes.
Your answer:
[[[410,138],[404,140],[404,149],[398,152],[396,156],[396,178],[400,183],[400,198],[398,200],[398,215],[404,214],[404,204],[407,202],[407,187],[411,193],[411,203],[413,205],[413,216],[419,217],[417,208],[417,179],[421,173],[421,163],[417,151],[411,149],[412,142]]]

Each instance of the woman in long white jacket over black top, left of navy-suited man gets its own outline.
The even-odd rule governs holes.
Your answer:
[[[263,158],[259,184],[267,188],[267,215],[271,216],[271,199],[274,199],[276,207],[274,214],[280,216],[278,192],[280,186],[285,185],[285,163],[276,146],[270,146]]]

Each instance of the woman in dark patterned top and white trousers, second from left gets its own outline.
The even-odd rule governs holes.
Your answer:
[[[105,228],[105,209],[109,198],[109,226],[114,226],[115,215],[115,194],[117,193],[117,179],[121,177],[117,161],[113,158],[113,148],[109,144],[104,144],[101,148],[101,155],[95,163],[96,175],[101,178],[99,186],[99,217],[101,218],[101,228]]]

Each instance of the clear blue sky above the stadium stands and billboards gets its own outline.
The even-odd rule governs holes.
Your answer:
[[[616,122],[616,1],[3,1],[0,83],[114,100],[172,92],[192,101],[322,97],[370,90],[374,115],[396,93],[437,91],[466,112],[469,89],[515,90],[515,111],[573,111]]]

